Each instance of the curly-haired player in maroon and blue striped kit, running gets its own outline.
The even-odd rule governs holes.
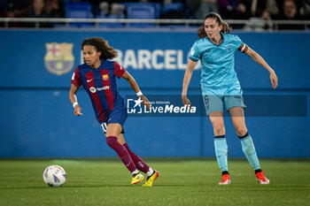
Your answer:
[[[123,136],[127,108],[117,89],[116,77],[128,80],[136,95],[143,100],[143,105],[148,108],[150,108],[149,100],[140,91],[136,80],[122,66],[108,60],[116,57],[117,51],[104,39],[99,37],[85,39],[81,43],[81,50],[85,63],[75,69],[69,92],[70,102],[74,106],[74,115],[82,115],[81,106],[75,95],[82,86],[87,91],[96,118],[104,130],[106,143],[115,150],[132,173],[131,185],[136,185],[143,180],[143,175],[137,171],[139,170],[148,176],[143,186],[151,187],[154,180],[159,177],[159,172],[145,164],[140,156],[136,156],[128,148]]]

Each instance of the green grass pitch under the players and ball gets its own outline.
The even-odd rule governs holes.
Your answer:
[[[231,184],[218,186],[213,159],[146,159],[159,171],[153,187],[130,186],[118,159],[0,160],[0,205],[310,205],[310,162],[261,160],[270,185],[260,185],[244,159],[229,161]],[[47,187],[50,164],[66,170],[62,187]]]

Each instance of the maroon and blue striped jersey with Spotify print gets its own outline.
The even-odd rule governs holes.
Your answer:
[[[97,69],[84,63],[74,71],[71,83],[85,88],[100,123],[108,121],[112,109],[125,107],[116,85],[116,77],[120,79],[124,72],[125,69],[117,62],[104,59]]]

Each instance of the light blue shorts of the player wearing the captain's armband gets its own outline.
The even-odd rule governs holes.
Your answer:
[[[240,85],[231,88],[208,88],[203,91],[206,116],[212,111],[226,111],[233,107],[245,108],[243,91]]]

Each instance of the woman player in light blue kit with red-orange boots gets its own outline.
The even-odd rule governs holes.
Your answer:
[[[230,113],[244,155],[252,165],[256,179],[259,180],[260,184],[269,184],[269,179],[260,169],[260,162],[256,155],[252,137],[248,134],[245,126],[243,91],[234,69],[235,51],[242,51],[263,66],[270,73],[273,88],[278,85],[275,71],[267,65],[259,54],[241,42],[238,36],[229,34],[229,25],[216,13],[211,12],[205,17],[204,27],[198,29],[198,36],[200,39],[194,43],[190,50],[190,60],[183,80],[182,102],[184,105],[190,105],[187,89],[191,74],[200,59],[200,83],[205,111],[213,125],[215,155],[222,172],[222,179],[219,184],[230,184],[227,160],[228,147],[223,120],[224,106]]]

